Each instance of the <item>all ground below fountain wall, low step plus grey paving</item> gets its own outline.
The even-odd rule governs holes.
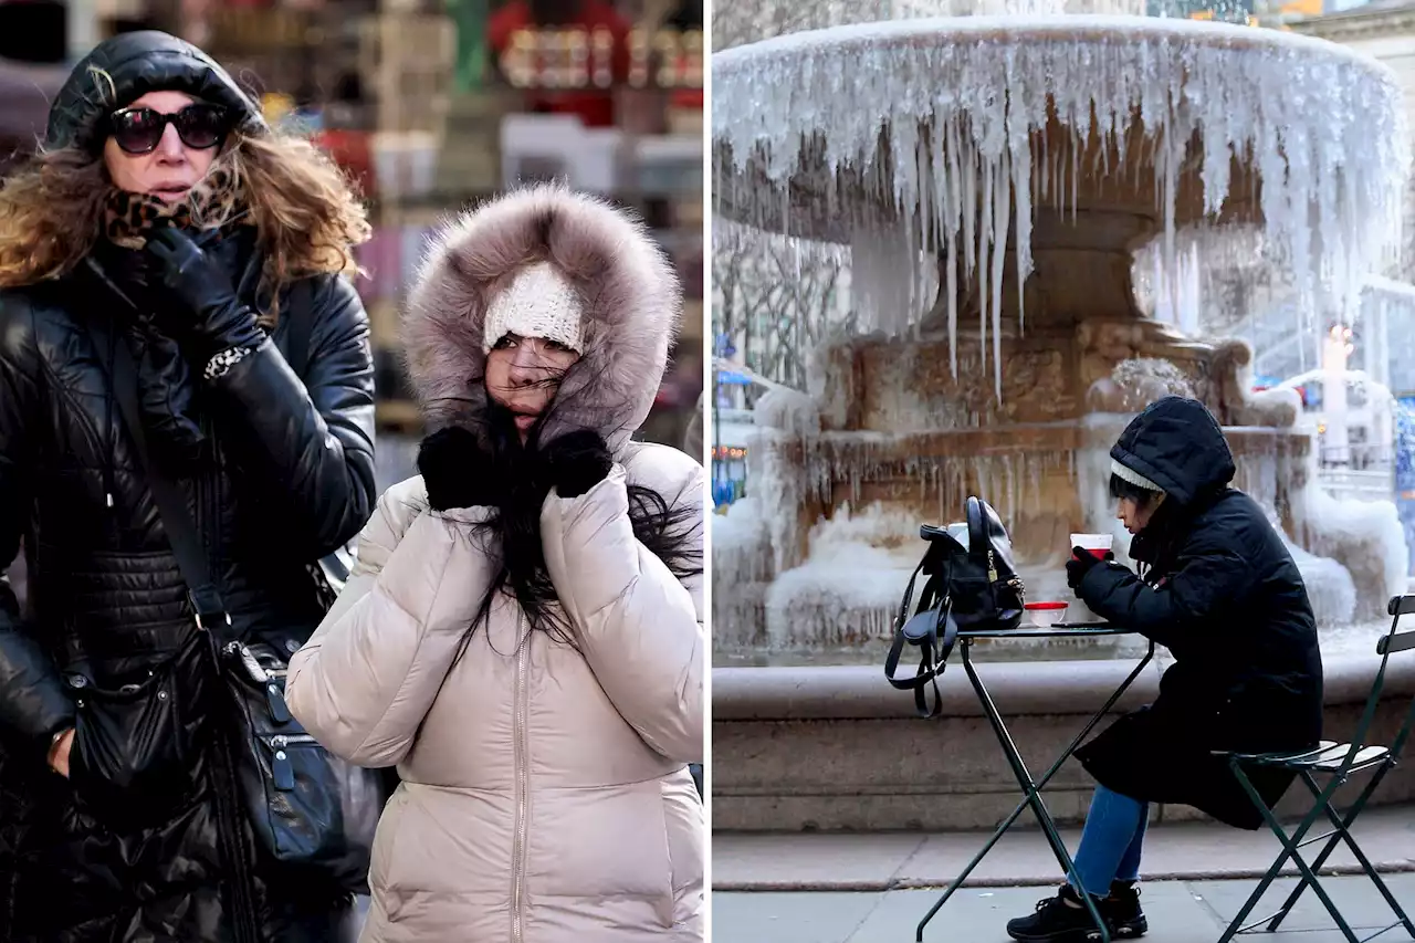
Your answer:
[[[1415,806],[1367,810],[1354,830],[1361,848],[1415,912]],[[712,939],[715,943],[908,943],[914,927],[990,833],[713,835]],[[1063,831],[1075,850],[1078,830]],[[1215,943],[1278,855],[1266,830],[1214,823],[1152,825],[1140,867],[1148,943]],[[1315,854],[1309,847],[1307,857]],[[1332,858],[1350,872],[1350,852]],[[1364,876],[1326,876],[1323,886],[1370,937],[1395,920]],[[1007,943],[1009,919],[1032,912],[1060,884],[1056,859],[1036,828],[1015,828],[938,912],[927,943]],[[1281,879],[1249,920],[1278,909],[1295,879]],[[1415,915],[1415,913],[1412,913]],[[1409,940],[1404,929],[1380,943]],[[1242,940],[1346,943],[1310,889],[1274,935]]]

